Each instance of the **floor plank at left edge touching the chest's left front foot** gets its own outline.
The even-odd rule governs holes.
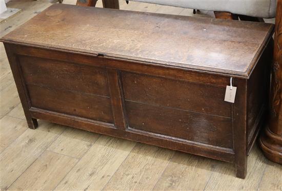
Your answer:
[[[5,116],[0,120],[1,128],[1,146],[2,153],[17,137],[22,135],[27,129],[28,125],[25,120],[16,119]]]

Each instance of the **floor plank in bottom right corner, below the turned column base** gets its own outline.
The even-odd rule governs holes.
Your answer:
[[[258,190],[282,190],[282,165],[267,161]]]

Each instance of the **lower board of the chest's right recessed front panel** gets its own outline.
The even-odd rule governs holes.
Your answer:
[[[132,129],[232,148],[231,119],[126,101]]]

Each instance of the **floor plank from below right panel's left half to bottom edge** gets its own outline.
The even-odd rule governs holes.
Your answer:
[[[138,143],[103,190],[151,190],[174,151]]]

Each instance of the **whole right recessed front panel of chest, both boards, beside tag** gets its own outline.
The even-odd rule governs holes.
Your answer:
[[[129,72],[122,83],[131,130],[233,148],[224,88]]]

